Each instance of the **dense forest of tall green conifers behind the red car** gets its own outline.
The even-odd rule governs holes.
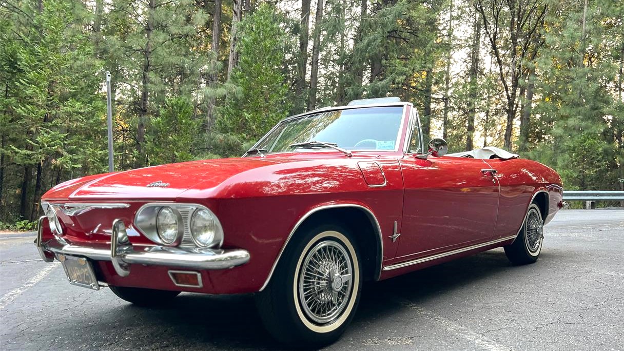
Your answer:
[[[117,171],[240,156],[283,117],[398,96],[451,151],[624,189],[623,18],[610,0],[0,0],[0,227],[107,171],[105,71]]]

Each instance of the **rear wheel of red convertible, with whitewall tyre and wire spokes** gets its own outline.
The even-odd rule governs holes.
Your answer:
[[[514,242],[504,247],[507,258],[514,264],[531,264],[537,261],[544,241],[544,220],[536,204],[529,206],[522,229]]]

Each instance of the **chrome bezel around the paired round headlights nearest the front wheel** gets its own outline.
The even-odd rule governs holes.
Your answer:
[[[160,209],[163,207],[170,207],[173,212],[177,215],[178,219],[178,235],[176,240],[172,243],[167,243],[158,234],[157,229],[157,216]],[[217,235],[215,235],[215,239],[210,242],[207,246],[202,246],[198,243],[193,237],[191,231],[191,221],[192,216],[197,212],[197,210],[207,210],[215,219],[215,223],[218,227],[217,232],[219,232],[220,238],[217,240]],[[195,248],[218,248],[223,244],[223,228],[221,227],[221,223],[218,221],[217,216],[207,207],[199,204],[182,204],[175,202],[150,202],[145,205],[142,205],[140,209],[137,211],[137,214],[134,217],[134,226],[139,229],[139,231],[147,237],[147,239],[152,240],[156,244],[165,245],[165,246],[180,246],[180,247],[195,247]]]

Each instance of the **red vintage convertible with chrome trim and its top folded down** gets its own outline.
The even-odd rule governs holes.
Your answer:
[[[36,246],[71,284],[161,305],[255,293],[266,329],[323,345],[362,284],[504,247],[535,262],[563,205],[557,172],[485,149],[446,155],[396,98],[288,117],[243,157],[69,180],[42,197]]]

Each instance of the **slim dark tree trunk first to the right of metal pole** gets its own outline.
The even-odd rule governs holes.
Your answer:
[[[143,72],[141,76],[141,101],[139,106],[139,124],[137,126],[137,152],[139,158],[135,161],[136,167],[145,166],[145,156],[143,155],[143,144],[145,142],[145,126],[149,119],[149,85],[150,85],[150,59],[152,57],[152,32],[154,31],[154,11],[156,9],[155,0],[149,0],[147,9],[147,28],[145,29],[145,49],[143,60]]]

